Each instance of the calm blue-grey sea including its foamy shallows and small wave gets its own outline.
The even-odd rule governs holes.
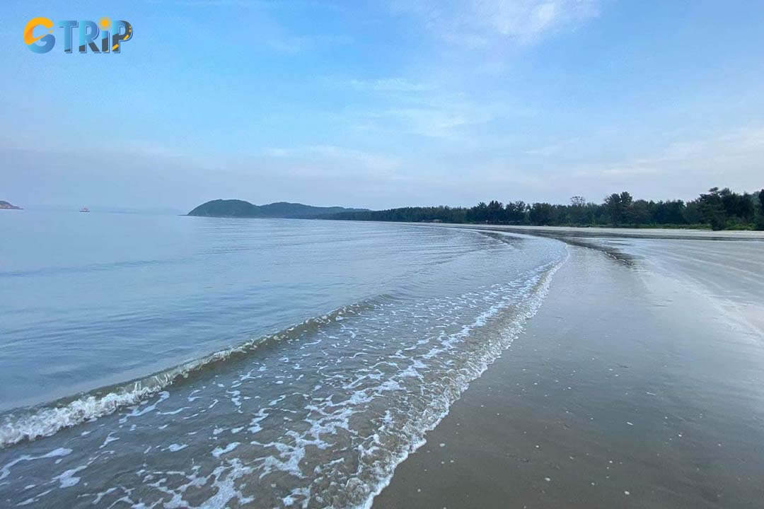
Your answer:
[[[535,314],[564,243],[0,214],[0,501],[364,507]]]

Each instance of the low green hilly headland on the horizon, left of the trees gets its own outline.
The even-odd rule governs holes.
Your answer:
[[[212,200],[202,203],[188,213],[202,217],[286,217],[291,219],[316,219],[333,214],[365,212],[366,208],[313,207],[302,203],[277,201],[268,205],[252,205],[244,200]]]

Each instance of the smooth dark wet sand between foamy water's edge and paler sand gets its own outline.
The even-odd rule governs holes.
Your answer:
[[[759,333],[642,263],[568,249],[374,507],[764,507]]]

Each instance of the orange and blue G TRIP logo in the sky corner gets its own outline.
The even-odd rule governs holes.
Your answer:
[[[127,21],[101,18],[98,23],[89,20],[66,20],[53,23],[50,18],[32,18],[24,27],[24,44],[34,53],[47,53],[56,46],[53,25],[63,31],[63,52],[73,53],[73,34],[79,36],[79,53],[121,53],[121,43],[133,37],[133,27]],[[37,33],[38,35],[35,35]]]

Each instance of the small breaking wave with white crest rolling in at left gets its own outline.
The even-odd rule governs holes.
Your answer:
[[[113,414],[120,408],[139,404],[141,401],[159,394],[164,388],[181,380],[189,379],[189,377],[221,362],[240,359],[270,343],[288,340],[299,337],[303,333],[318,330],[323,324],[330,324],[338,319],[342,320],[342,317],[347,315],[359,314],[373,305],[373,301],[363,301],[358,304],[342,306],[342,308],[337,308],[329,314],[309,318],[301,324],[288,327],[278,333],[248,340],[241,345],[185,362],[180,366],[154,373],[143,379],[133,380],[125,384],[110,385],[90,391],[85,395],[63,398],[31,409],[11,411],[2,417],[5,422],[0,424],[0,448],[12,446],[24,440],[50,437],[50,435],[64,428]]]

